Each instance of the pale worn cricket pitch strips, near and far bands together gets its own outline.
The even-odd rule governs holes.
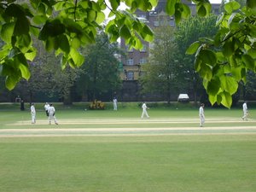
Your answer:
[[[241,123],[241,119],[207,119],[207,123]],[[156,136],[156,135],[202,135],[202,134],[256,134],[255,125],[241,126],[206,126],[195,127],[198,119],[62,119],[61,125],[68,125],[68,128],[61,128],[61,125],[51,125],[46,129],[35,128],[36,125],[47,125],[47,120],[37,121],[36,125],[28,126],[27,129],[21,129],[21,125],[31,125],[31,121],[17,121],[10,124],[15,125],[17,129],[0,129],[0,137],[95,137],[95,136]],[[246,123],[246,122],[245,122]],[[131,125],[129,128],[90,128],[90,125]],[[150,124],[170,124],[170,127],[140,127],[140,125]],[[175,127],[175,124],[184,125],[183,127]],[[185,125],[187,124],[187,125]],[[189,127],[188,124],[194,125]],[[74,125],[86,125],[86,128],[75,128]],[[19,127],[20,126],[20,127]],[[89,126],[89,127],[88,127]],[[59,128],[58,128],[59,127]]]

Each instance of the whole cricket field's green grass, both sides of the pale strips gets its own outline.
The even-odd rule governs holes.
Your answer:
[[[37,106],[36,106],[37,107]],[[56,105],[60,125],[9,125],[30,121],[28,110],[1,108],[0,130],[34,128],[198,127],[189,124],[61,125],[65,119],[140,119],[141,108],[84,111]],[[41,110],[40,110],[41,109]],[[150,119],[197,119],[198,108],[154,108]],[[207,119],[241,119],[241,109],[205,109]],[[255,126],[247,122],[207,126]],[[254,192],[256,134],[163,136],[0,137],[0,192]]]

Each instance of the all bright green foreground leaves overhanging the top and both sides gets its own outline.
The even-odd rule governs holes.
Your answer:
[[[30,78],[27,61],[32,61],[36,55],[36,49],[32,46],[32,35],[44,42],[45,49],[55,50],[55,55],[61,56],[62,68],[68,65],[81,66],[84,56],[78,49],[95,42],[97,29],[101,28],[105,19],[103,11],[107,7],[111,10],[108,16],[115,16],[108,21],[105,29],[111,42],[121,37],[131,47],[142,49],[141,39],[153,40],[152,30],[133,13],[137,9],[151,10],[157,5],[157,0],[109,0],[109,4],[104,0],[19,2],[7,0],[0,3],[0,35],[5,42],[0,51],[0,72],[6,77],[5,85],[9,90],[20,79]],[[198,15],[210,14],[211,4],[208,0],[190,2],[195,3]],[[125,3],[128,9],[119,10],[120,3]],[[204,79],[210,101],[222,103],[228,108],[232,102],[231,95],[238,87],[237,81],[245,81],[246,71],[254,71],[255,68],[252,54],[256,31],[256,2],[247,0],[247,6],[236,12],[239,8],[239,3],[226,3],[226,12],[218,20],[221,27],[216,38],[201,39],[188,50],[189,54],[198,50],[195,55],[195,69]],[[166,0],[166,13],[174,15],[178,23],[189,18],[190,9],[181,0]]]

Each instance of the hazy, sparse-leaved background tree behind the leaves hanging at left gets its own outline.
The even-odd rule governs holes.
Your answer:
[[[35,42],[40,53],[30,65],[31,78],[28,81],[21,80],[16,88],[26,90],[29,95],[29,102],[34,101],[36,93],[44,91],[49,97],[58,95],[64,104],[71,104],[70,90],[79,77],[79,69],[71,70],[70,67],[66,67],[60,73],[60,58],[55,57],[53,53],[47,54],[42,44],[37,40]]]

